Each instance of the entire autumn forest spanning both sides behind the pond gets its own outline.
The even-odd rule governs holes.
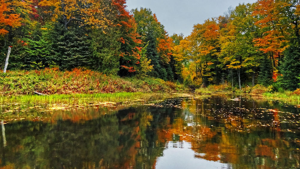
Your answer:
[[[169,35],[151,9],[129,11],[126,0],[0,2],[1,70],[11,48],[9,72],[79,69],[193,88],[300,88],[298,0],[229,7],[195,21],[187,36]]]

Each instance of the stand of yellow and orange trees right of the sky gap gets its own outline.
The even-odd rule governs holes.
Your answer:
[[[187,83],[299,88],[298,0],[258,0],[193,26],[174,47]]]

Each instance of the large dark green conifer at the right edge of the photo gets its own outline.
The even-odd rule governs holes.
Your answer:
[[[295,90],[299,88],[300,79],[300,44],[299,40],[293,42],[285,51],[280,61],[279,71],[282,74],[280,83],[283,88]]]

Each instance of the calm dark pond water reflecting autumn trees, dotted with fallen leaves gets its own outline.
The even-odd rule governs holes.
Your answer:
[[[179,97],[1,111],[0,167],[300,167],[300,108],[279,102]]]

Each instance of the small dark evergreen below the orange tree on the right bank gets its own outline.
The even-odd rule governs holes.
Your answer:
[[[263,86],[271,85],[272,80],[272,65],[268,58],[262,60],[259,65],[258,83]]]

